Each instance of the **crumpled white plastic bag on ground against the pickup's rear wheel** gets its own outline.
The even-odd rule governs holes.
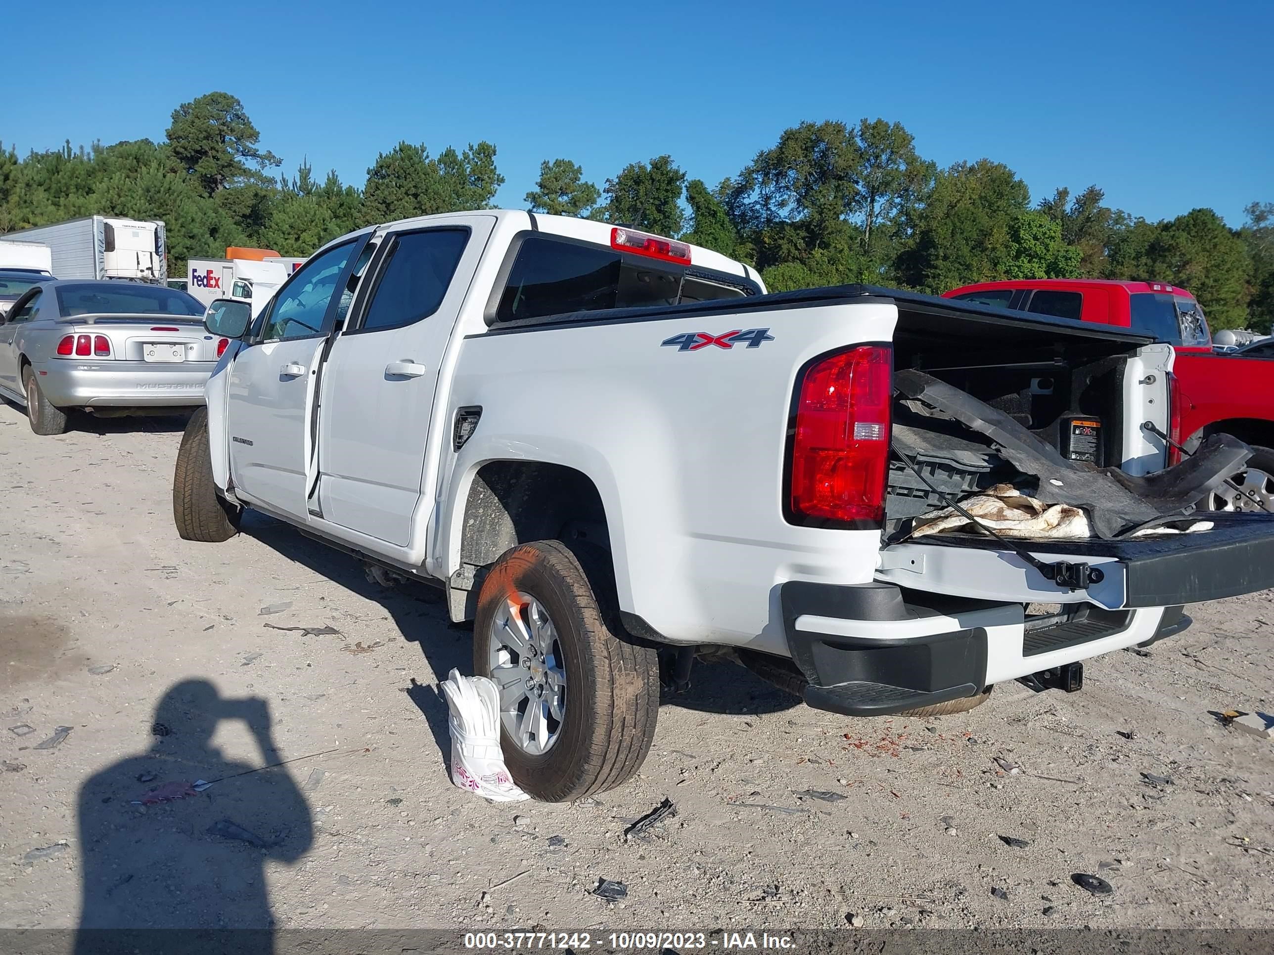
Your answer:
[[[499,690],[485,676],[452,670],[442,681],[451,717],[451,782],[494,802],[529,800],[499,749]]]

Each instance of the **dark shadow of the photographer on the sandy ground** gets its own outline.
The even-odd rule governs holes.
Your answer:
[[[260,764],[211,745],[223,719],[247,725]],[[186,680],[159,700],[152,733],[148,751],[80,787],[75,951],[150,951],[161,940],[177,951],[274,951],[265,863],[301,860],[313,824],[288,769],[260,768],[280,761],[266,702]],[[187,788],[200,779],[213,786]],[[159,795],[173,798],[138,805]]]

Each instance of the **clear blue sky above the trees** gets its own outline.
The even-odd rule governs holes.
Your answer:
[[[155,9],[154,14],[148,9]],[[261,145],[362,186],[400,139],[487,139],[521,208],[541,159],[603,185],[669,153],[715,185],[801,120],[902,122],[945,166],[990,157],[1031,186],[1096,182],[1159,219],[1231,225],[1274,201],[1274,4],[535,3],[381,0],[8,5],[0,139],[162,139],[224,89]]]

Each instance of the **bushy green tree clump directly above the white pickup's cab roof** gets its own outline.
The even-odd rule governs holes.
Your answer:
[[[423,144],[399,143],[367,171],[362,218],[371,224],[489,209],[503,182],[490,143],[470,144],[464,153],[448,146],[437,159]]]

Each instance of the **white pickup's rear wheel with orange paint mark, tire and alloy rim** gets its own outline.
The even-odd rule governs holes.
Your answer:
[[[483,581],[474,671],[499,689],[505,763],[538,800],[613,789],[650,751],[659,660],[615,611],[609,560],[586,545],[520,545]]]

